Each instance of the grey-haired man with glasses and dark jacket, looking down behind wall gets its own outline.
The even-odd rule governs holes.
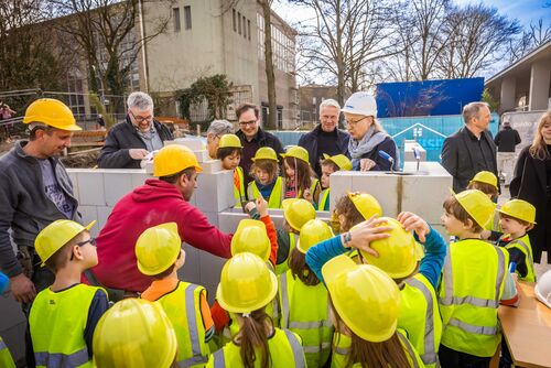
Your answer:
[[[160,150],[164,141],[173,140],[168,127],[154,120],[153,99],[136,91],[128,96],[126,121],[109,129],[98,156],[101,169],[140,169],[149,152]]]

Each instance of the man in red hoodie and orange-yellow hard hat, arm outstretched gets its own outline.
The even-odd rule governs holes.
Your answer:
[[[159,151],[153,165],[159,178],[147,180],[117,203],[96,239],[99,263],[93,274],[85,273],[91,283],[117,290],[116,299],[134,296],[150,285],[151,279],[138,270],[134,246],[152,226],[176,223],[180,237],[192,247],[231,257],[231,235],[219,231],[187,203],[202,172],[195,154],[182,145],[168,145]]]

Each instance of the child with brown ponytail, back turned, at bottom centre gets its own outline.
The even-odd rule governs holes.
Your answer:
[[[207,367],[305,367],[299,337],[274,327],[264,312],[277,293],[278,279],[259,257],[238,253],[224,264],[216,299],[239,333],[210,355]]]

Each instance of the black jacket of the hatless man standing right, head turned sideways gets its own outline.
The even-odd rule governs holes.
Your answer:
[[[497,176],[496,144],[494,144],[489,132],[484,131],[480,137],[480,143],[484,143],[482,140],[485,140],[491,152],[490,162],[486,167],[480,165],[482,162],[477,160],[479,148],[471,136],[468,129],[463,127],[447,137],[442,147],[442,166],[453,176],[453,190],[456,193],[464,191],[468,182],[479,171],[486,170]]]

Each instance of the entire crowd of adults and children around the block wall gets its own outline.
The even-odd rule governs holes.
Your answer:
[[[29,140],[0,158],[0,289],[10,283],[29,318],[28,366],[489,366],[499,304],[518,303],[516,280],[536,281],[533,263],[551,250],[551,112],[520,154],[515,198],[496,207],[489,110],[465,107],[465,128],[442,152],[454,177],[442,204],[447,245],[407,208],[386,217],[368,188],[336,198],[328,223],[316,218],[334,172],[398,164],[368,94],[343,109],[322,104],[321,125],[285,151],[253,105],[237,109],[235,134],[213,122],[208,152],[234,171],[235,205],[250,217],[233,235],[188,203],[201,164],[190,149],[163,147],[171,136],[148,97],[130,95],[98,160],[134,167],[158,151],[155,178],[119,201],[97,238],[57,159],[80,130],[67,106],[31,104]],[[348,132],[337,128],[341,111]],[[282,209],[281,228],[269,208]],[[204,286],[179,279],[184,241],[227,259],[212,305]],[[0,364],[13,366],[1,339]]]

